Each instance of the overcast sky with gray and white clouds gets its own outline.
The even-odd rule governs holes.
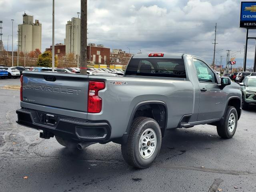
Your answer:
[[[0,8],[6,49],[11,19],[15,20],[14,49],[17,47],[17,25],[22,23],[24,11],[42,23],[42,50],[50,47],[52,0],[0,0]],[[80,12],[80,0],[55,0],[55,43],[64,43],[65,24],[77,17],[76,12]],[[130,48],[131,53],[190,53],[211,64],[217,23],[216,64],[223,56],[225,66],[226,50],[231,50],[240,66],[246,30],[239,28],[239,17],[239,0],[88,0],[88,42],[126,52]],[[249,36],[256,33],[249,32]],[[248,48],[247,66],[252,66],[254,40],[249,40]]]

